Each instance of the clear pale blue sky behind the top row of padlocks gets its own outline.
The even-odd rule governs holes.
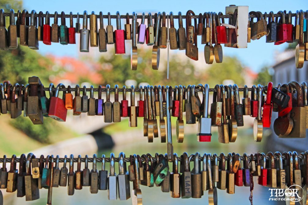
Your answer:
[[[249,11],[261,11],[264,13],[265,11],[269,13],[271,10],[274,13],[277,13],[279,10],[289,10],[292,13],[295,13],[296,10],[306,10],[308,9],[308,1],[286,1],[280,0],[278,1],[244,1],[244,0],[233,0],[233,1],[95,1],[95,0],[87,0],[87,1],[59,1],[53,0],[50,2],[46,1],[27,1],[24,0],[24,8],[27,10],[36,10],[53,14],[55,11],[61,13],[63,10],[65,14],[69,14],[70,11],[73,14],[79,12],[79,14],[83,13],[83,10],[87,10],[88,14],[91,11],[95,11],[95,14],[99,14],[99,11],[102,11],[103,14],[107,14],[107,12],[111,12],[111,14],[115,14],[116,11],[119,11],[121,15],[126,14],[127,12],[132,14],[133,11],[139,13],[148,12],[155,13],[157,11],[165,11],[167,14],[172,11],[174,14],[177,14],[178,11],[181,11],[182,14],[185,14],[187,10],[193,10],[196,14],[204,13],[206,11],[215,11],[218,13],[222,11],[225,13],[225,6],[229,6],[229,4],[235,4],[237,6],[249,6]],[[194,2],[194,3],[192,3]],[[29,12],[30,12],[29,11]],[[74,19],[75,21],[75,19]],[[113,20],[114,21],[114,20]],[[294,21],[294,18],[293,18]],[[51,18],[51,23],[53,22],[53,18]],[[67,25],[69,26],[69,21],[66,20]],[[58,23],[60,23],[60,19],[58,19]],[[82,25],[82,20],[80,21]],[[113,22],[115,28],[115,22]],[[107,20],[104,20],[104,26],[107,25]],[[185,24],[184,24],[185,25]],[[74,22],[75,26],[75,22]],[[124,26],[124,21],[122,21],[122,29]],[[175,26],[177,27],[177,21],[175,22]],[[199,50],[204,49],[204,45],[200,43],[201,38],[198,38],[198,48]],[[137,44],[138,46],[138,44]],[[236,56],[241,60],[241,62],[249,66],[251,69],[258,71],[263,65],[272,65],[274,63],[274,53],[276,51],[282,51],[287,46],[287,43],[281,45],[275,45],[274,43],[265,43],[265,37],[262,37],[259,40],[251,40],[251,43],[248,44],[248,48],[246,49],[235,49],[235,48],[227,48],[223,46],[224,55]],[[44,45],[40,42],[39,52],[42,54],[51,53],[58,56],[69,55],[73,57],[78,56],[79,48],[76,45],[63,45],[53,43],[51,46]],[[96,51],[99,53],[98,49]],[[170,52],[174,52],[173,50]],[[103,55],[103,53],[101,53]],[[204,61],[202,56],[199,56],[199,61]]]

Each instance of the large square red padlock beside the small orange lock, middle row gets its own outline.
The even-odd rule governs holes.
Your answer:
[[[55,96],[52,96],[50,99],[48,116],[57,121],[65,122],[67,115],[67,109],[65,108],[64,102],[66,91],[63,91],[62,99],[59,98],[59,90],[61,87],[65,88],[62,83],[59,83],[59,85],[56,87]]]

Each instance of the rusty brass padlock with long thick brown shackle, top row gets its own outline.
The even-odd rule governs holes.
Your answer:
[[[197,19],[195,18],[195,27],[192,26],[191,15],[195,15],[192,10],[186,13],[186,56],[197,61],[198,60],[198,47],[197,47]],[[189,29],[190,28],[190,29]],[[195,45],[194,45],[194,44]]]

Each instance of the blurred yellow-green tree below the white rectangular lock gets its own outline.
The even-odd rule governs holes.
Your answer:
[[[214,87],[216,84],[222,84],[227,79],[233,80],[238,86],[243,86],[243,70],[244,68],[237,58],[224,56],[222,63],[214,63],[207,70],[205,81],[210,87]]]

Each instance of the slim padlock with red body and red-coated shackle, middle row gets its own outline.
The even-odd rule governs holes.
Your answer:
[[[272,89],[273,89],[273,83],[269,82],[267,84],[266,100],[263,105],[263,116],[262,116],[263,127],[270,127],[271,123],[272,111],[273,111],[273,103],[271,100]]]

